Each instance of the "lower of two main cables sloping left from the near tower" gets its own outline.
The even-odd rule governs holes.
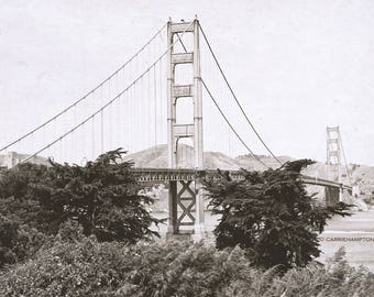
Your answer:
[[[189,30],[189,28],[193,25],[194,23],[190,23],[188,26],[186,26],[186,29],[182,32],[182,36],[186,33],[187,30]],[[112,98],[109,102],[107,102],[106,105],[101,106],[100,109],[98,109],[96,112],[94,112],[92,114],[90,114],[89,117],[87,117],[84,121],[81,121],[80,123],[78,123],[77,125],[75,125],[73,129],[70,129],[69,131],[67,131],[66,133],[64,133],[63,135],[61,135],[59,138],[55,139],[53,142],[51,142],[50,144],[45,145],[44,147],[42,147],[41,150],[38,150],[36,153],[23,158],[22,161],[20,161],[20,163],[25,163],[29,160],[37,156],[40,153],[44,152],[45,150],[50,148],[52,145],[54,145],[55,143],[57,143],[58,141],[65,139],[67,135],[72,134],[74,131],[76,131],[79,127],[84,125],[86,122],[88,122],[89,120],[91,120],[94,117],[96,117],[97,114],[99,114],[100,112],[102,113],[102,111],[111,106],[117,99],[121,98],[121,96],[123,94],[125,94],[131,87],[135,86],[138,81],[140,81],[144,75],[146,75],[147,73],[151,72],[151,69],[153,67],[155,67],[155,65],[162,61],[162,58],[164,56],[166,56],[166,54],[170,51],[170,48],[173,48],[173,46],[178,43],[179,40],[176,40],[175,42],[173,42],[167,50],[154,62],[152,63],[141,75],[139,75],[125,89],[123,89],[121,92],[119,92],[114,98]],[[0,151],[1,152],[1,151]]]

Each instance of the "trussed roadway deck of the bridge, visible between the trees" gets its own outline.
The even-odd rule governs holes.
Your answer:
[[[170,182],[170,180],[195,180],[201,178],[206,175],[218,176],[218,170],[207,169],[170,169],[170,168],[132,168],[139,182]],[[222,170],[228,172],[230,177],[234,180],[242,180],[244,176],[241,170]],[[317,185],[323,187],[341,188],[352,191],[352,187],[340,184],[337,182],[331,182],[328,179],[312,177],[307,175],[301,175],[301,180],[304,184]]]

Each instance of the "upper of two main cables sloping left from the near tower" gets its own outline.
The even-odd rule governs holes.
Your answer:
[[[109,75],[105,80],[102,80],[99,85],[97,85],[97,87],[95,87],[94,89],[91,89],[90,91],[88,91],[85,96],[82,96],[80,99],[76,100],[75,102],[73,102],[70,106],[68,106],[67,108],[63,109],[61,112],[58,112],[57,114],[55,114],[54,117],[52,117],[50,120],[45,121],[44,123],[37,125],[36,128],[34,128],[33,130],[31,130],[30,132],[28,132],[26,134],[20,136],[19,139],[16,139],[15,141],[7,144],[6,146],[0,148],[0,153],[6,151],[7,148],[9,148],[10,146],[14,145],[15,143],[24,140],[25,138],[32,135],[33,133],[35,133],[36,131],[41,130],[42,128],[46,127],[47,124],[50,124],[51,122],[53,122],[54,120],[56,120],[57,118],[59,118],[61,116],[63,116],[64,113],[66,113],[67,111],[69,111],[72,108],[76,107],[78,103],[80,103],[81,101],[84,101],[88,96],[90,96],[91,94],[94,94],[97,89],[99,89],[100,87],[102,87],[106,82],[108,82],[113,76],[116,76],[119,72],[121,72],[125,66],[128,66],[134,58],[136,58],[146,46],[148,46],[160,34],[161,32],[166,28],[167,23],[165,23],[133,56],[131,56],[124,64],[122,64],[117,70],[114,70],[111,75]]]

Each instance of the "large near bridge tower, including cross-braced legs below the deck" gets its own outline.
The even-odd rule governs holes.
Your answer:
[[[193,52],[178,53],[175,42],[180,34],[193,34]],[[168,167],[178,168],[178,142],[189,138],[194,143],[194,167],[202,169],[202,95],[200,79],[200,48],[199,48],[199,22],[167,23],[167,142]],[[176,67],[188,64],[193,67],[194,77],[190,85],[176,84]],[[179,98],[187,98],[194,103],[194,119],[190,123],[177,123],[177,105]],[[168,197],[168,234],[194,234],[199,239],[205,233],[202,188],[198,180],[169,182]]]

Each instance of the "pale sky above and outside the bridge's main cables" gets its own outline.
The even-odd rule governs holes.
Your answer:
[[[326,161],[326,128],[339,125],[348,161],[374,165],[371,0],[0,0],[0,145],[94,88],[169,16],[196,14],[276,155]]]

